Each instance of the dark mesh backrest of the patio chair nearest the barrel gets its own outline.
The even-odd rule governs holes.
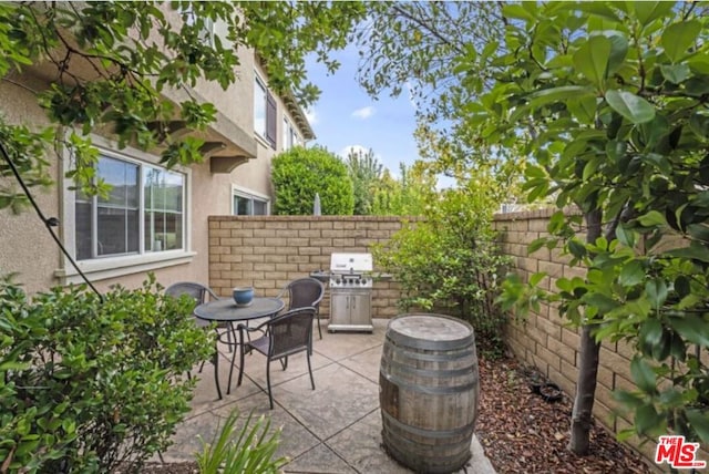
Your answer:
[[[312,340],[315,308],[297,308],[268,321],[269,357],[281,357],[309,350]]]

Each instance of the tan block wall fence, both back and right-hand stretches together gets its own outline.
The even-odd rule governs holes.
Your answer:
[[[500,214],[493,223],[502,250],[513,257],[516,271],[523,278],[545,271],[547,277],[541,286],[551,290],[556,288],[555,280],[561,277],[584,276],[583,270],[567,265],[568,259],[559,250],[543,248],[527,254],[527,245],[547,234],[552,214],[548,209]],[[253,285],[258,295],[275,296],[295,278],[329,269],[330,254],[371,251],[372,245],[386,243],[401,226],[399,217],[212,216],[209,285],[222,296],[230,295],[233,287],[242,285]],[[372,293],[373,317],[398,315],[399,296],[400,287],[395,281],[377,281]],[[327,293],[320,315],[329,316]],[[510,323],[505,339],[520,361],[535,367],[573,396],[578,375],[578,334],[577,329],[559,317],[555,306],[542,305],[540,312]],[[614,432],[630,426],[629,419],[614,415],[616,404],[612,392],[634,389],[631,357],[631,348],[623,342],[604,342],[600,348],[594,414]],[[653,460],[655,443],[640,446],[639,440],[631,439],[629,444]],[[709,460],[709,456],[703,458]]]

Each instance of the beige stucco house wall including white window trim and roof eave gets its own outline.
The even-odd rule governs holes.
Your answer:
[[[173,14],[174,19],[176,17]],[[219,25],[215,32],[219,33]],[[273,156],[285,150],[284,117],[297,130],[299,137],[312,138],[312,130],[302,111],[294,104],[292,97],[276,99],[276,147],[273,148],[255,132],[254,94],[255,74],[268,83],[268,75],[261,68],[257,54],[253,50],[239,49],[237,54],[240,64],[237,66],[237,82],[226,91],[218,84],[201,81],[192,93],[217,107],[217,122],[204,133],[206,141],[220,141],[225,152],[206,153],[204,162],[189,167],[177,167],[174,171],[183,174],[186,189],[184,198],[184,236],[182,250],[147,251],[140,255],[100,257],[81,260],[80,267],[100,290],[114,284],[127,287],[140,286],[147,271],[154,271],[162,285],[175,281],[208,281],[208,223],[209,215],[230,215],[233,193],[235,189],[259,199],[273,202],[270,187],[270,161]],[[37,97],[30,90],[41,91],[50,84],[47,71],[34,68],[22,75],[11,73],[13,84],[0,81],[0,113],[12,123],[22,123],[32,128],[50,125],[45,114],[37,105]],[[172,101],[183,97],[184,91],[166,91],[165,96]],[[215,138],[216,137],[216,138]],[[117,150],[110,135],[92,136],[101,150],[115,152],[114,157],[126,158],[137,164],[157,165],[160,151],[141,151],[135,147]],[[236,152],[234,152],[236,151]],[[71,183],[63,174],[71,164],[61,151],[48,151],[48,161],[52,164],[50,174],[55,181],[47,192],[32,189],[40,208],[45,216],[60,219],[55,231],[69,251],[76,255],[74,192],[69,189]],[[230,161],[238,158],[236,161]],[[212,162],[227,162],[226,169],[236,165],[230,172],[225,166],[214,166]],[[0,185],[17,186],[12,179],[0,179]],[[143,244],[141,244],[143,246]],[[0,210],[0,275],[17,272],[16,281],[21,282],[29,292],[48,289],[55,285],[80,282],[81,279],[69,261],[49,236],[44,225],[33,210],[27,209],[13,215],[10,209]]]

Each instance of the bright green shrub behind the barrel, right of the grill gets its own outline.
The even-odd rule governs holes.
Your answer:
[[[508,258],[496,248],[491,208],[474,190],[448,190],[429,206],[424,220],[404,225],[387,246],[376,248],[374,257],[401,285],[402,310],[466,320],[479,350],[499,357],[506,317],[495,298]]]

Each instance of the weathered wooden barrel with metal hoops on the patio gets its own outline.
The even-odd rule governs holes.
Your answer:
[[[441,315],[392,319],[379,370],[383,445],[419,473],[450,473],[471,456],[477,418],[473,328]]]

